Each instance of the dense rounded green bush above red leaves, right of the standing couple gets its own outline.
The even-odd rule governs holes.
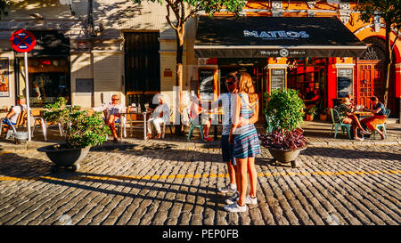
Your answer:
[[[302,109],[305,104],[296,90],[282,88],[263,95],[266,104],[264,112],[273,130],[292,131],[299,127],[303,121]]]

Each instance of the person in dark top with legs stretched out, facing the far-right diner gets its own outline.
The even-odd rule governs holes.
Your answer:
[[[335,109],[339,111],[340,117],[344,117],[342,123],[350,124],[353,128],[354,139],[363,141],[364,137],[358,137],[357,129],[361,130],[361,134],[370,134],[368,131],[364,130],[364,127],[361,126],[358,117],[353,114],[353,103],[350,101],[351,96],[348,95],[341,101],[341,104],[337,106]]]

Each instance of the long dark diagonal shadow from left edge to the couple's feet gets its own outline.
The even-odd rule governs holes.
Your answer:
[[[72,172],[70,170],[61,170],[52,174],[52,162],[37,158],[25,158],[15,153],[2,153],[1,150],[0,159],[2,160],[2,163],[0,163],[0,177],[16,177],[17,179],[23,180],[30,179],[36,182],[46,182],[82,190],[97,191],[106,195],[151,199],[152,201],[160,202],[178,202],[193,206],[198,205],[201,207],[209,207],[215,210],[216,213],[217,210],[221,209],[217,206],[218,204],[225,205],[225,197],[217,195],[217,185],[214,187],[205,187],[180,182],[135,179],[129,175],[92,174]],[[83,166],[85,166],[85,164]],[[192,180],[201,180],[201,178]],[[90,183],[83,184],[83,182]],[[110,189],[110,187],[105,189],[105,184],[123,188],[129,187],[130,189],[127,192],[122,191],[121,188],[119,190],[113,190]],[[160,193],[165,194],[160,195]],[[201,202],[201,200],[201,203],[198,203],[198,197],[204,198],[203,202]]]

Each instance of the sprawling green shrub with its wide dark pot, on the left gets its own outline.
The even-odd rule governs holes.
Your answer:
[[[53,172],[61,166],[78,170],[79,163],[86,157],[90,148],[107,141],[110,129],[104,126],[101,112],[88,116],[87,111],[81,110],[79,106],[68,106],[62,97],[53,104],[46,105],[45,109],[45,120],[60,123],[64,130],[64,142],[37,149],[45,152],[55,164],[52,167]]]

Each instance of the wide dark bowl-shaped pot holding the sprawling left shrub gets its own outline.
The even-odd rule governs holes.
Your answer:
[[[82,149],[65,149],[56,148],[57,145],[48,145],[37,149],[40,152],[45,152],[46,156],[52,160],[55,166],[52,167],[52,171],[57,171],[60,167],[71,167],[73,171],[79,169],[79,163],[86,157],[90,150],[90,146]]]

